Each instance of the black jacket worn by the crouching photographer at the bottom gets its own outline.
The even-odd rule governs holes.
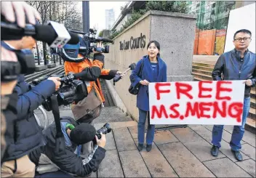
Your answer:
[[[66,123],[73,124],[74,126],[78,125],[76,121],[70,117],[62,117],[60,122],[62,124],[62,127],[63,124],[65,125]],[[62,131],[63,134],[65,134],[65,129],[62,128]],[[67,140],[65,140],[65,154],[55,155],[53,151],[55,147],[56,134],[55,122],[50,124],[47,129],[44,129],[43,134],[45,139],[47,139],[47,145],[33,150],[33,152],[29,154],[31,161],[33,161],[36,166],[39,166],[39,158],[41,153],[43,153],[44,155],[47,155],[47,157],[61,170],[71,174],[76,174],[79,177],[86,177],[87,175],[91,174],[92,171],[97,171],[101,161],[103,161],[103,158],[105,158],[105,149],[103,147],[97,147],[92,158],[89,158],[89,162],[86,163],[88,158],[84,159],[76,155],[76,153],[74,152],[77,145],[73,142],[72,145],[67,145]]]

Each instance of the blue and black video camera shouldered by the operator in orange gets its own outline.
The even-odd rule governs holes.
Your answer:
[[[72,33],[79,33],[79,43],[78,44],[65,44],[62,49],[52,48],[51,53],[52,54],[58,54],[60,57],[63,58],[63,60],[68,62],[81,62],[84,60],[85,57],[87,57],[91,52],[92,49],[94,49],[97,52],[100,53],[108,53],[109,52],[109,46],[105,45],[104,48],[96,47],[95,43],[97,42],[107,42],[112,43],[113,40],[111,39],[105,39],[102,37],[95,36],[97,31],[89,29],[89,33],[84,33],[81,31],[73,31],[70,30]],[[78,57],[78,54],[82,54],[84,57]]]

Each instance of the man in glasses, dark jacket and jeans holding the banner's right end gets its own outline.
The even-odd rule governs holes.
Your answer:
[[[233,36],[233,44],[235,49],[230,52],[222,54],[215,68],[212,71],[212,78],[214,81],[231,81],[231,80],[245,80],[244,90],[244,109],[241,126],[234,126],[231,137],[231,151],[238,161],[242,161],[241,139],[244,135],[244,125],[247,121],[247,116],[250,108],[250,91],[251,87],[256,84],[256,60],[255,53],[248,50],[251,42],[252,33],[246,29],[236,31]],[[223,74],[223,78],[221,77]],[[218,155],[220,148],[220,141],[222,139],[223,126],[214,126],[212,129],[212,149],[213,156]]]

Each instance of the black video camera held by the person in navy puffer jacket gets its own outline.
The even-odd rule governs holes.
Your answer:
[[[70,105],[73,102],[79,102],[87,97],[87,85],[84,81],[76,80],[72,76],[64,76],[64,75],[56,75],[52,74],[52,77],[60,77],[60,89],[54,92],[53,94],[57,94],[57,102],[58,105]],[[32,81],[33,85],[39,84],[41,81],[44,81],[48,77],[51,76],[43,76],[36,80]],[[51,111],[52,110],[52,100],[47,98],[42,105],[44,106],[45,110]]]

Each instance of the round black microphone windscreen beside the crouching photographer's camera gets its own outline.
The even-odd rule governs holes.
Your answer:
[[[71,141],[83,145],[95,138],[96,129],[91,124],[82,123],[71,130]]]

